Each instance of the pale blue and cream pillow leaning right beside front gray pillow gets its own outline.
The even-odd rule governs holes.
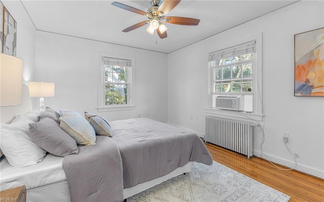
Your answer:
[[[96,132],[90,123],[80,116],[60,117],[60,127],[73,139],[77,144],[95,145]]]

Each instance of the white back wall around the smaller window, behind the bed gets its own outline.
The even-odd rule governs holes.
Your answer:
[[[98,113],[99,53],[131,56],[134,61],[135,110]],[[143,49],[37,31],[36,79],[54,82],[55,97],[45,105],[83,114],[100,114],[109,120],[149,117],[168,122],[168,56]]]

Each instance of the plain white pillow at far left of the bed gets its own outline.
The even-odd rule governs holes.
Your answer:
[[[0,148],[9,164],[17,167],[37,164],[46,155],[46,151],[34,143],[28,133],[12,124],[0,125]]]

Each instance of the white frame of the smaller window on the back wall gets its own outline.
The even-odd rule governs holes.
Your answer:
[[[106,105],[105,102],[105,70],[103,68],[103,58],[111,59],[120,59],[120,60],[129,60],[131,61],[131,67],[128,67],[128,92],[127,99],[128,104],[121,105]],[[108,53],[99,53],[99,71],[98,71],[98,112],[107,112],[107,111],[124,111],[124,110],[135,110],[135,106],[132,105],[132,83],[133,83],[133,69],[134,69],[134,58],[130,56],[122,56]],[[116,83],[120,84],[120,83]]]

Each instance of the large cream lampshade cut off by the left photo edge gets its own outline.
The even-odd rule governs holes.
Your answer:
[[[22,60],[0,54],[0,106],[22,104]]]

